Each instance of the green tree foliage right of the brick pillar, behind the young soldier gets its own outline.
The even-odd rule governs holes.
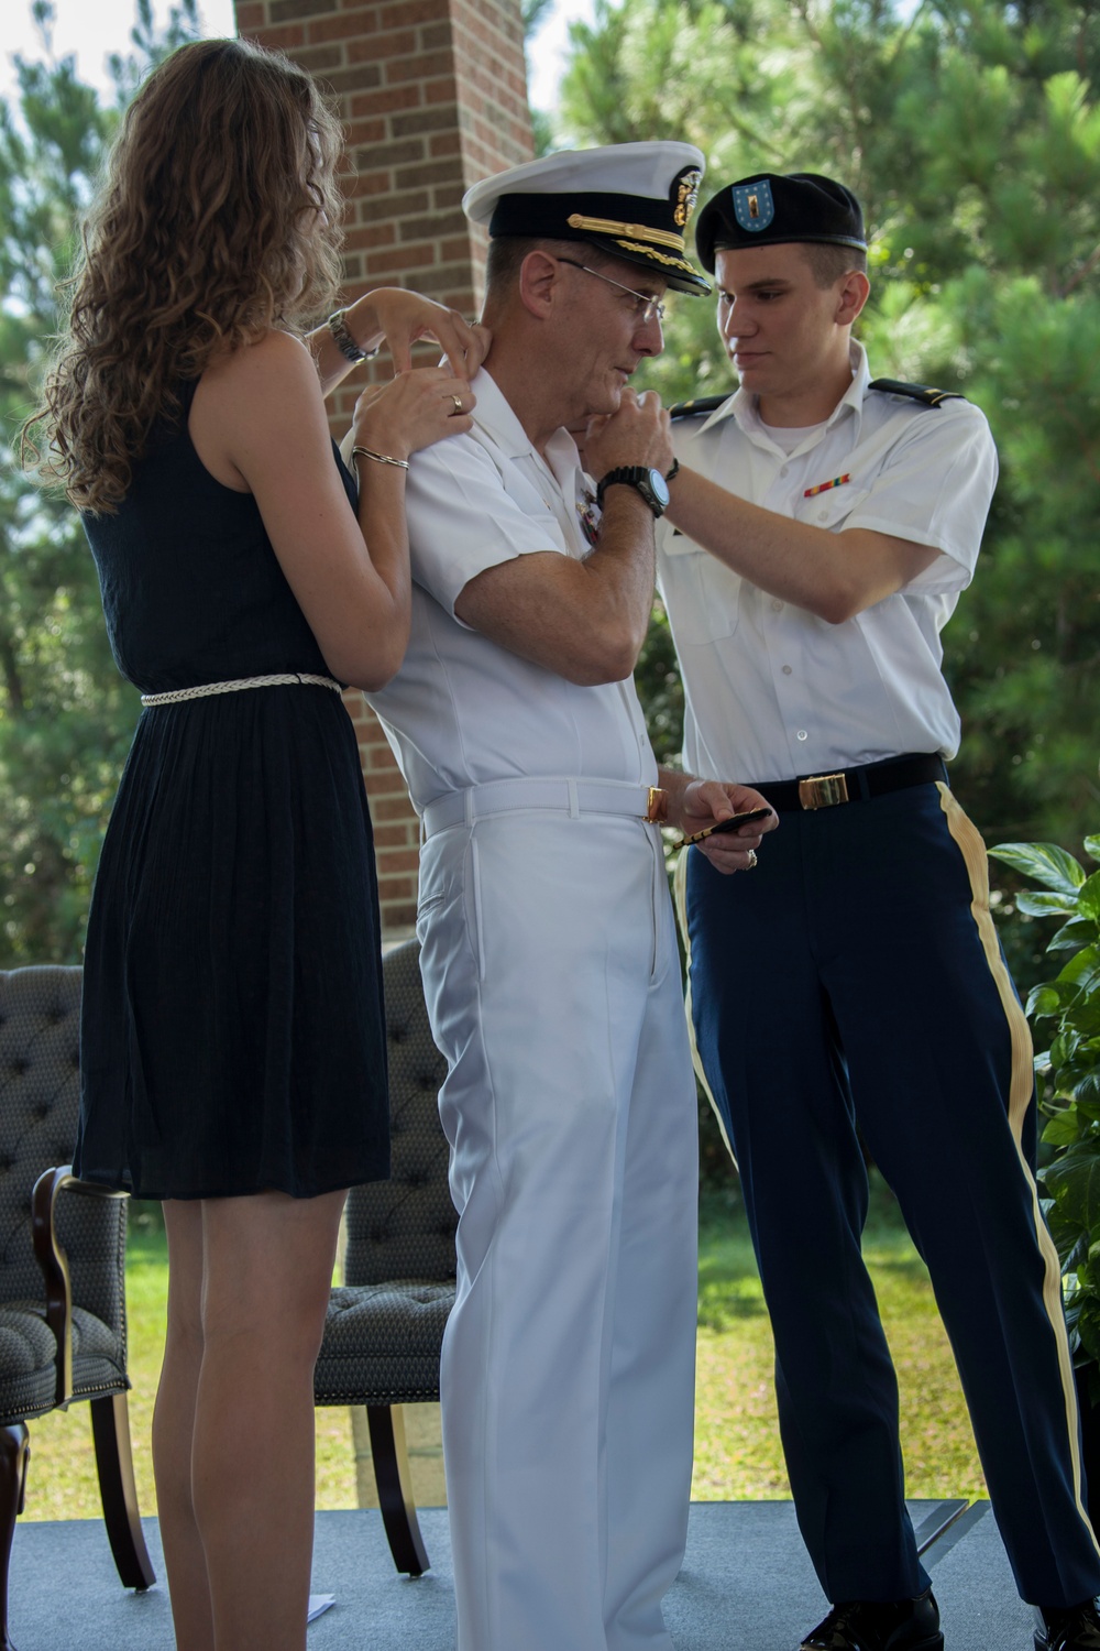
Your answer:
[[[688,137],[707,155],[703,198],[754,168],[861,195],[876,373],[963,390],[1001,454],[978,576],[945,632],[953,783],[988,840],[1079,847],[1100,799],[1100,10],[599,0],[571,40],[561,142]],[[638,381],[666,401],[732,388],[711,302],[673,299]],[[660,629],[640,684],[671,751]]]

